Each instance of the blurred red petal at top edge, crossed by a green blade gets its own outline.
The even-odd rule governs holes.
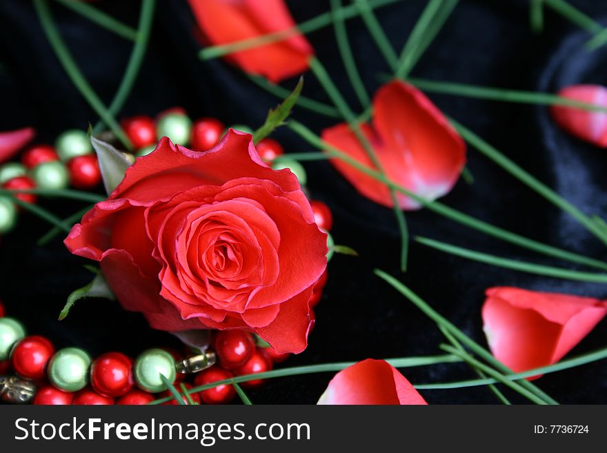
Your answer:
[[[248,74],[277,83],[306,72],[314,54],[284,0],[188,0],[204,36],[219,46],[290,30],[286,39],[228,54]]]

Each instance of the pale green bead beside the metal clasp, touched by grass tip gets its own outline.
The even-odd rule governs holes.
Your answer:
[[[163,374],[169,382],[175,381],[175,359],[161,349],[148,349],[141,352],[133,365],[135,382],[146,392],[158,393],[166,390],[160,375]]]

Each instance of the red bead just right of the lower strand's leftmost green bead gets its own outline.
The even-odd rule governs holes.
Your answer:
[[[54,354],[50,341],[43,336],[26,336],[10,354],[14,372],[19,376],[38,381],[43,379],[46,364]]]

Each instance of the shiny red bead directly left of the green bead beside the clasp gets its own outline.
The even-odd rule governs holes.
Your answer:
[[[95,359],[90,367],[90,385],[108,398],[128,393],[133,385],[132,361],[120,352],[107,352]]]

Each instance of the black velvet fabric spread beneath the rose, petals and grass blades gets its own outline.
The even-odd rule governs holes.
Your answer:
[[[79,66],[100,97],[109,103],[126,66],[131,44],[95,26],[52,1],[54,19]],[[401,1],[377,10],[392,45],[400,49],[425,1]],[[546,29],[533,34],[528,25],[528,2],[462,0],[412,75],[521,90],[555,91],[571,83],[607,84],[607,47],[583,50],[588,39],[553,12],[546,12]],[[572,0],[600,19],[607,3]],[[324,12],[324,0],[289,1],[302,21]],[[139,2],[103,0],[95,6],[122,21],[137,24]],[[43,34],[29,1],[0,3],[0,130],[34,125],[39,141],[52,141],[66,128],[86,128],[97,117],[66,77]],[[389,70],[360,19],[348,21],[358,66],[370,92]],[[309,39],[341,90],[356,106],[332,28]],[[195,22],[185,1],[160,0],[141,74],[119,115],[150,114],[181,105],[192,117],[214,116],[226,124],[259,125],[277,99],[253,85],[222,60],[199,61]],[[291,87],[295,79],[286,81]],[[328,102],[311,74],[304,94]],[[541,181],[548,183],[588,214],[607,217],[604,192],[604,150],[566,135],[550,121],[544,107],[497,103],[430,94],[441,110],[487,139]],[[295,118],[315,132],[333,119],[297,108]],[[288,130],[277,138],[290,152],[311,150]],[[442,338],[435,325],[411,303],[372,273],[381,268],[399,275],[399,233],[391,210],[361,197],[326,162],[305,163],[312,198],[326,202],[335,217],[332,234],[350,245],[359,257],[335,256],[317,308],[317,326],[308,350],[283,366],[332,361],[358,361],[439,354]],[[581,225],[495,164],[468,148],[472,185],[460,181],[441,201],[502,228],[534,239],[607,259],[607,250]],[[44,201],[61,215],[81,208],[69,201]],[[428,236],[475,250],[551,265],[567,265],[462,227],[429,211],[407,214],[412,236]],[[72,256],[61,238],[40,248],[36,240],[48,225],[23,215],[15,232],[0,245],[0,297],[10,314],[32,333],[48,336],[58,347],[76,345],[91,354],[120,350],[136,355],[145,348],[176,346],[170,334],[148,328],[140,314],[121,310],[118,303],[80,301],[65,321],[57,321],[66,297],[90,281],[85,260]],[[485,344],[481,330],[484,290],[512,285],[607,297],[604,286],[565,281],[491,267],[411,244],[404,282],[464,332]],[[572,352],[581,354],[605,345],[607,321]],[[448,364],[403,370],[413,383],[472,379],[466,365]],[[331,374],[312,374],[269,381],[250,391],[254,403],[315,403]],[[544,376],[537,384],[561,403],[607,403],[607,364]],[[497,403],[486,387],[422,392],[429,403]],[[515,402],[516,394],[506,392]]]

